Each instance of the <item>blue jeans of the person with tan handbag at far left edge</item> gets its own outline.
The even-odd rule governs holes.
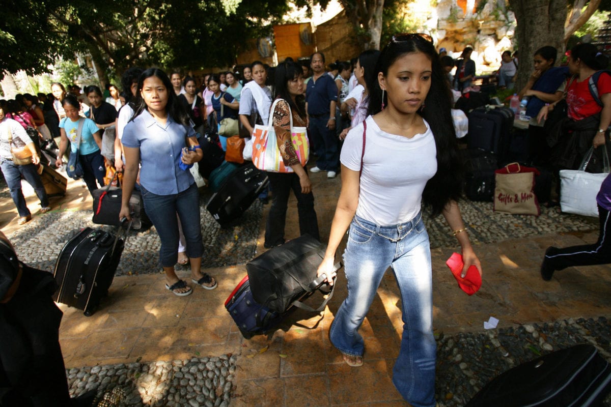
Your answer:
[[[27,209],[26,198],[24,198],[23,191],[21,190],[21,176],[23,176],[23,178],[32,185],[32,188],[34,188],[40,200],[40,206],[49,206],[49,198],[46,196],[45,186],[42,184],[42,181],[40,181],[40,176],[34,164],[15,165],[10,160],[5,160],[4,158],[0,158],[0,160],[2,174],[4,175],[6,185],[10,190],[10,196],[13,198],[13,202],[17,207],[17,212],[19,212],[20,217],[31,214],[30,210]]]

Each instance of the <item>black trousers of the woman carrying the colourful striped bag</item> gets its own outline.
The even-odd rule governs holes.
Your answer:
[[[312,195],[312,192],[301,193],[299,176],[295,173],[268,172],[267,174],[269,177],[270,189],[273,192],[273,200],[271,208],[269,208],[265,227],[265,245],[269,247],[284,243],[284,226],[287,221],[288,195],[291,189],[297,198],[300,235],[309,234],[316,240],[320,240],[318,234],[318,218],[316,218],[316,211],[314,210],[314,195]]]

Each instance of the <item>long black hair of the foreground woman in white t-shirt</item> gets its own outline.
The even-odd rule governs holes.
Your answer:
[[[375,76],[381,72],[387,76],[393,63],[405,54],[422,52],[431,60],[431,88],[426,95],[420,116],[431,128],[437,148],[437,173],[427,183],[422,194],[425,206],[433,216],[441,214],[450,200],[459,200],[462,195],[463,168],[456,149],[456,132],[452,121],[452,93],[441,67],[439,54],[433,43],[414,35],[398,43],[391,41],[382,50],[376,64]],[[360,63],[360,62],[359,62]],[[373,81],[369,90],[367,113],[375,115],[382,109],[382,90],[379,82]],[[384,101],[386,103],[386,99]]]

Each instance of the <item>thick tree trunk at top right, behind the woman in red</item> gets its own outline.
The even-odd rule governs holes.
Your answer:
[[[565,52],[566,0],[513,0],[519,69],[516,90],[521,90],[533,72],[535,51],[545,45],[558,50],[558,61]],[[534,40],[536,39],[536,40]]]

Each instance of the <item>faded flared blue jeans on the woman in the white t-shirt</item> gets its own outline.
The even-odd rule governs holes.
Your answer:
[[[414,407],[435,405],[436,344],[433,337],[433,282],[428,234],[418,214],[410,222],[379,226],[355,216],[343,255],[348,297],[331,325],[332,344],[348,355],[363,355],[358,330],[387,268],[401,292],[403,336],[392,382]]]

